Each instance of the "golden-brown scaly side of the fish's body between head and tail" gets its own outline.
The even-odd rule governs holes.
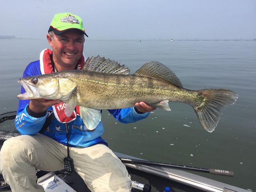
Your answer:
[[[78,104],[90,108],[128,108],[140,101],[148,104],[162,100],[186,102],[187,97],[190,96],[186,89],[181,92],[180,88],[169,82],[146,76],[82,71],[70,71],[70,73],[73,75],[68,78],[78,84],[77,91],[80,93]]]

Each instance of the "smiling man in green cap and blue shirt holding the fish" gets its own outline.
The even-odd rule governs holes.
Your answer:
[[[30,63],[23,77],[83,68],[87,34],[82,19],[71,13],[56,14],[48,33],[52,50],[43,50],[40,60]],[[36,184],[36,169],[62,170],[67,156],[73,159],[74,170],[91,191],[130,191],[130,176],[124,164],[101,138],[102,122],[88,130],[78,106],[69,117],[64,107],[60,100],[20,100],[15,125],[22,135],[6,140],[0,152],[0,170],[12,191],[43,192],[43,187]],[[134,108],[109,112],[118,121],[130,123],[146,118],[154,109],[140,102]]]

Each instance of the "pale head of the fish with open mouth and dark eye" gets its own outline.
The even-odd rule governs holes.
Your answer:
[[[18,82],[26,91],[17,96],[19,99],[58,99],[56,96],[58,95],[59,82],[58,78],[52,75],[30,76],[21,78]]]

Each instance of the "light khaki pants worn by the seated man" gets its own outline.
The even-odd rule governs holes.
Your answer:
[[[6,140],[0,151],[0,170],[12,192],[44,192],[36,184],[36,169],[64,169],[67,147],[48,136],[21,135]],[[107,146],[70,148],[74,168],[91,191],[128,192],[130,176],[126,167]]]

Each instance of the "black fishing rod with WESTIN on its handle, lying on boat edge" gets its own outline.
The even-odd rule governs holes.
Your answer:
[[[154,166],[162,166],[162,167],[183,169],[183,170],[189,170],[189,171],[198,171],[198,172],[210,173],[210,174],[215,174],[215,175],[223,175],[223,176],[230,176],[230,177],[234,176],[233,171],[227,171],[227,170],[198,168],[198,167],[174,165],[174,164],[167,164],[167,163],[158,163],[158,162],[138,160],[138,159],[128,159],[128,158],[119,158],[119,159],[123,163],[129,163],[129,164],[135,163],[135,164],[142,164],[142,165],[154,165]]]

